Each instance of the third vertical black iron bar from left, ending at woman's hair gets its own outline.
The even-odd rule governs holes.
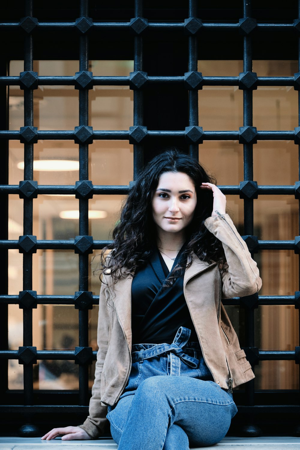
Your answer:
[[[134,17],[143,17],[143,0],[134,0]],[[134,36],[134,72],[143,70],[143,38]],[[144,95],[142,90],[133,92],[133,124],[143,125]],[[133,179],[143,168],[143,144],[133,146]]]

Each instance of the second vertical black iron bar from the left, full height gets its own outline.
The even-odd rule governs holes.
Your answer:
[[[80,17],[88,16],[88,0],[80,1]],[[89,40],[87,35],[80,36],[79,71],[89,70]],[[79,125],[89,125],[89,90],[79,90]],[[79,144],[79,180],[89,179],[89,144]],[[79,235],[89,234],[89,200],[79,199]],[[79,291],[88,290],[89,256],[79,257]],[[88,347],[88,310],[78,311],[79,347]],[[89,371],[87,365],[79,365],[79,404],[87,405],[89,401]]]

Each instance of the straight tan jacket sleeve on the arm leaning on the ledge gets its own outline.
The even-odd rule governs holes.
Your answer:
[[[97,329],[97,343],[99,350],[97,352],[97,361],[95,368],[95,380],[92,387],[92,396],[90,399],[89,415],[80,427],[88,433],[92,439],[96,439],[103,433],[103,428],[107,424],[106,414],[107,406],[101,405],[100,384],[102,369],[107,353],[108,330],[109,330],[109,306],[107,306],[104,293],[105,284],[101,284],[99,296],[99,316]]]

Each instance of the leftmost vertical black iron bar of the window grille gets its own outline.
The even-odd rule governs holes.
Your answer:
[[[32,17],[33,1],[26,0],[25,14]],[[33,70],[33,38],[24,40],[24,71]],[[24,90],[24,126],[33,126],[33,90]],[[33,144],[24,144],[24,180],[33,180]],[[33,201],[24,198],[23,234],[32,235]],[[23,254],[23,290],[32,289],[32,254]],[[32,309],[23,310],[23,345],[32,346]],[[33,368],[24,364],[24,403],[33,403]]]

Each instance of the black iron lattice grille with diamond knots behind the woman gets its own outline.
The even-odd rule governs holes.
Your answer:
[[[0,85],[19,85],[24,90],[24,126],[20,130],[0,130],[0,139],[8,142],[9,139],[20,140],[24,143],[24,180],[19,185],[0,185],[2,198],[7,199],[8,194],[19,195],[23,198],[24,208],[24,231],[19,240],[0,240],[0,251],[7,255],[8,249],[18,249],[23,253],[23,291],[19,295],[0,295],[0,307],[6,314],[2,315],[0,360],[1,370],[1,392],[5,395],[4,405],[1,406],[2,414],[13,417],[19,414],[26,418],[26,422],[33,423],[32,418],[36,414],[87,414],[87,406],[90,393],[88,390],[88,365],[96,359],[96,352],[88,347],[88,310],[99,302],[97,296],[88,292],[88,255],[94,249],[102,249],[109,241],[93,240],[88,235],[88,203],[93,195],[101,194],[126,194],[129,186],[124,185],[93,185],[88,174],[88,151],[89,144],[94,139],[125,139],[134,145],[134,177],[143,166],[143,144],[146,139],[172,138],[185,139],[188,144],[189,153],[198,158],[198,145],[204,140],[239,140],[243,144],[244,151],[244,180],[240,185],[220,186],[225,194],[239,195],[244,200],[244,224],[245,236],[243,236],[252,253],[262,249],[289,249],[300,253],[300,236],[294,240],[286,241],[262,241],[254,236],[253,232],[253,200],[260,194],[289,194],[300,198],[300,181],[293,186],[258,186],[253,180],[253,144],[257,140],[294,140],[300,144],[300,63],[298,73],[293,77],[260,77],[252,72],[252,37],[255,30],[285,31],[295,29],[298,40],[298,61],[300,62],[300,4],[298,5],[298,18],[288,23],[260,23],[251,17],[251,2],[243,0],[243,17],[238,23],[228,22],[202,22],[197,18],[197,2],[189,0],[188,17],[184,22],[154,22],[143,17],[142,1],[135,0],[134,17],[130,22],[97,22],[89,17],[88,1],[80,1],[79,17],[73,22],[39,22],[32,15],[33,1],[26,0],[25,16],[19,22],[0,23],[1,31],[13,31],[20,27],[24,32],[24,71],[20,76],[0,76]],[[134,72],[130,76],[93,76],[89,71],[89,31],[115,30],[134,34]],[[34,33],[38,30],[65,31],[76,29],[79,38],[79,72],[75,76],[38,76],[33,71],[33,45]],[[188,36],[188,72],[182,76],[148,76],[143,71],[143,33],[148,30],[157,29],[168,32],[185,33]],[[201,29],[219,29],[226,32],[229,29],[237,29],[243,40],[243,72],[238,76],[202,76],[197,71],[198,55],[198,32]],[[148,86],[156,85],[183,86],[188,94],[188,126],[185,130],[148,130],[147,124],[143,122],[143,93]],[[38,85],[74,85],[79,90],[79,125],[75,130],[38,130],[33,122],[33,90]],[[134,122],[129,130],[94,130],[88,125],[88,102],[89,90],[94,85],[129,85],[134,90]],[[198,90],[202,86],[222,85],[238,86],[243,90],[243,126],[239,130],[232,131],[208,131],[198,126]],[[257,130],[252,123],[252,91],[257,86],[293,86],[298,90],[299,97],[299,123],[295,130],[284,131],[262,131]],[[79,147],[79,180],[75,185],[38,185],[33,180],[33,146],[38,139],[74,139]],[[3,172],[2,172],[3,175]],[[300,178],[299,178],[300,180]],[[72,240],[39,240],[32,235],[32,206],[33,199],[39,194],[75,194],[79,199],[79,236]],[[6,211],[7,212],[7,211]],[[300,232],[299,232],[300,234]],[[32,254],[37,249],[73,249],[79,258],[79,287],[75,295],[48,296],[38,295],[32,290]],[[6,252],[6,253],[5,253]],[[7,261],[7,256],[3,261]],[[5,286],[5,284],[3,284]],[[6,284],[7,286],[7,284]],[[5,291],[4,291],[5,292]],[[18,351],[7,350],[7,305],[18,304],[23,309],[23,346]],[[79,311],[79,345],[73,351],[40,351],[32,346],[32,309],[37,304],[52,305],[74,305]],[[300,362],[300,347],[295,351],[260,351],[254,346],[254,310],[258,305],[294,305],[300,306],[300,292],[294,296],[249,296],[234,298],[224,301],[225,305],[240,305],[245,309],[246,320],[246,344],[243,347],[247,359],[254,367],[262,360],[295,360]],[[6,309],[5,309],[6,308]],[[4,322],[3,322],[4,320]],[[6,322],[5,322],[6,320]],[[6,325],[5,325],[6,324]],[[5,347],[7,346],[7,347]],[[7,396],[7,362],[9,359],[17,359],[24,368],[24,397],[20,401],[20,393],[11,401]],[[33,364],[36,360],[65,359],[74,360],[79,365],[79,392],[76,404],[67,403],[67,394],[55,405],[49,405],[49,398],[44,404],[37,404],[33,391]],[[6,375],[5,375],[6,373]],[[52,395],[52,394],[49,394]],[[9,399],[9,402],[6,402]],[[254,381],[247,383],[244,405],[239,406],[240,412],[248,414],[264,412],[286,412],[299,414],[299,405],[255,405]],[[23,403],[23,405],[20,405]],[[43,403],[42,401],[40,403]],[[47,404],[48,403],[48,404]],[[251,415],[250,415],[251,417]],[[35,432],[35,426],[31,425],[31,433]]]

